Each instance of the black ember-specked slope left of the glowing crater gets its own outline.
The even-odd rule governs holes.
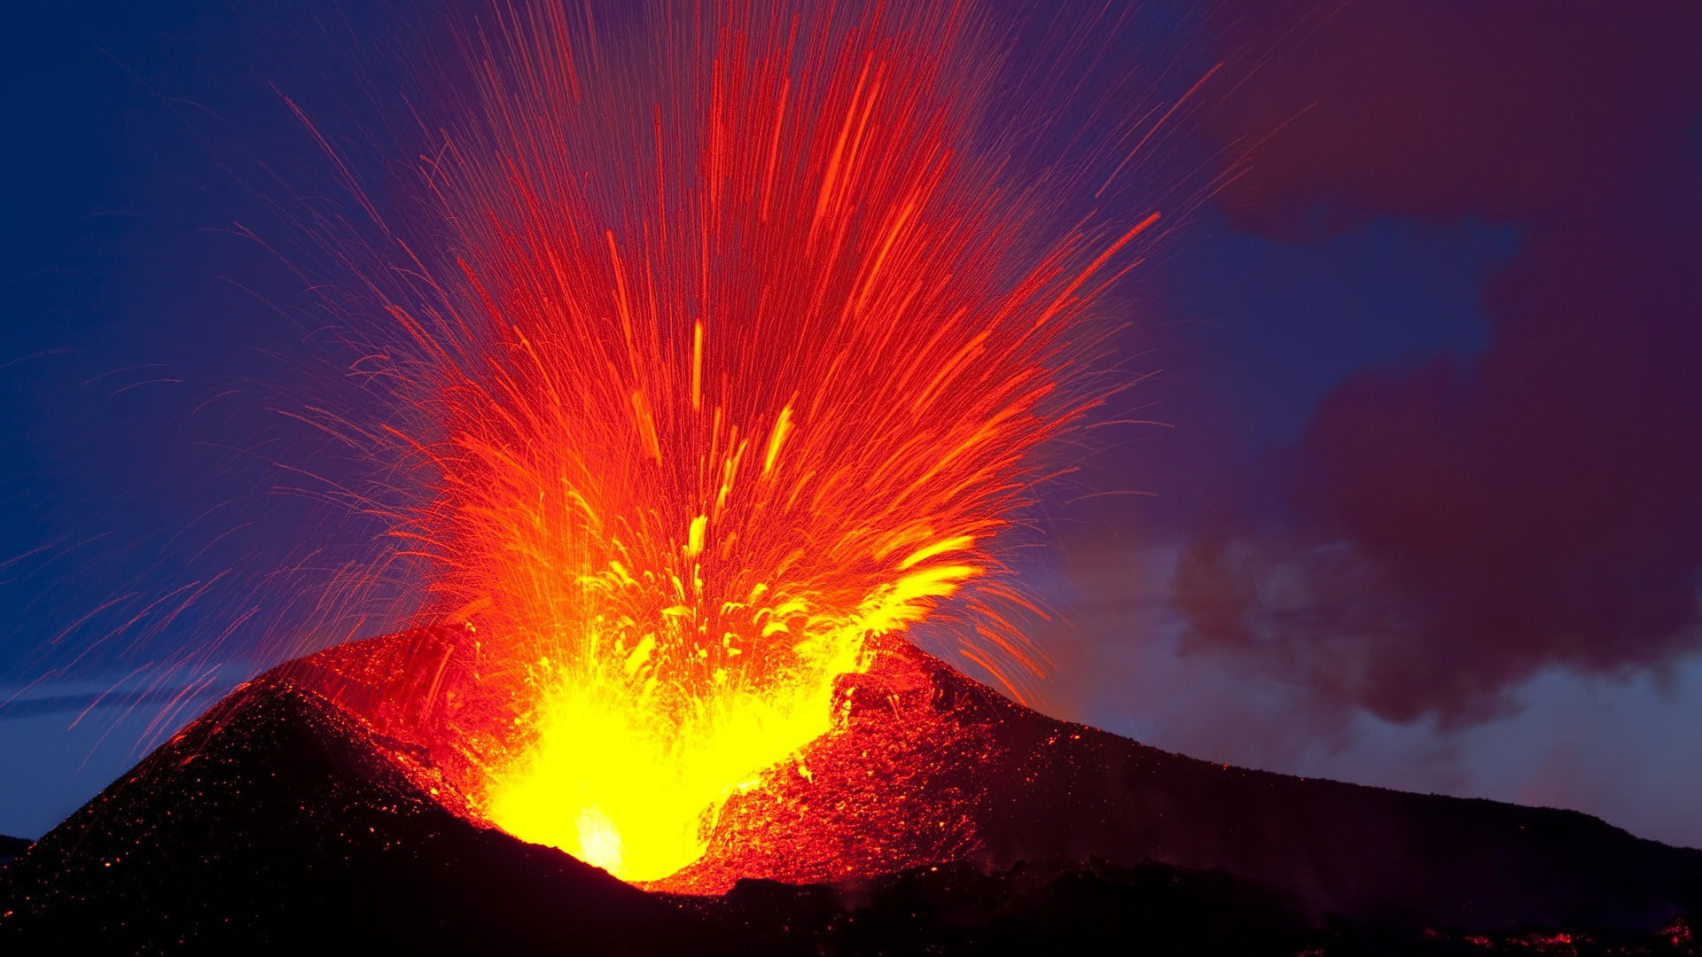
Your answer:
[[[46,950],[674,950],[700,920],[563,853],[466,824],[330,702],[235,691],[0,872],[7,938]]]

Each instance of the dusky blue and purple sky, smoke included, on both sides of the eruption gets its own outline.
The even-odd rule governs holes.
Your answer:
[[[332,494],[369,467],[293,417],[352,387],[291,228],[337,187],[283,99],[410,163],[373,106],[432,43],[400,7],[9,15],[0,833],[414,610],[328,591],[386,545]],[[1702,846],[1702,7],[1634,9],[1123,19],[1105,109],[1224,66],[1122,199],[1168,232],[1106,415],[1161,424],[1091,433],[1035,516],[1043,710]]]

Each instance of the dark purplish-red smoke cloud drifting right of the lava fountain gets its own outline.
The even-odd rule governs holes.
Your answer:
[[[1220,196],[1242,228],[1401,216],[1523,242],[1484,291],[1482,354],[1350,378],[1224,490],[1239,504],[1178,569],[1191,647],[1443,722],[1551,666],[1702,647],[1702,5],[1225,20],[1275,51],[1207,121],[1249,152]]]

